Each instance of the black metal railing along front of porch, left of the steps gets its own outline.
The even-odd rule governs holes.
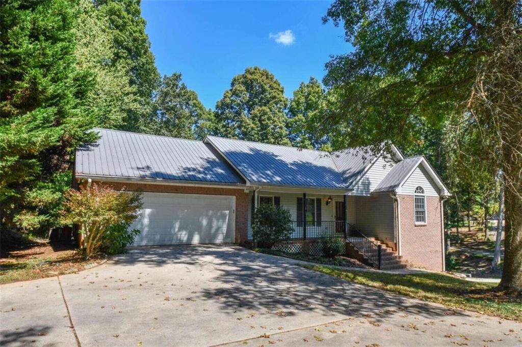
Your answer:
[[[290,235],[290,240],[313,240],[325,236],[344,238],[345,221],[322,220],[322,221],[292,221],[294,232]]]

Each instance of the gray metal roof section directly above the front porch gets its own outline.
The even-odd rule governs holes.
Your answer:
[[[328,152],[209,136],[212,143],[253,183],[299,187],[345,188]]]

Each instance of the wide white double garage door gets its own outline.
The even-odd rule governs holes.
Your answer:
[[[234,196],[144,193],[135,245],[233,243]]]

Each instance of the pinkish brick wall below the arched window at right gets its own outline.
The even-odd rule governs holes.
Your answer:
[[[401,255],[405,260],[429,270],[443,270],[441,203],[426,196],[428,224],[415,225],[413,195],[398,195],[400,201]]]

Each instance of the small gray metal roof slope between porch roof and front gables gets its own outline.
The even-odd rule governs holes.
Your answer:
[[[334,164],[348,188],[352,188],[357,183],[366,168],[373,163],[376,157],[370,151],[370,147],[347,148],[331,154],[331,158],[334,160]]]

